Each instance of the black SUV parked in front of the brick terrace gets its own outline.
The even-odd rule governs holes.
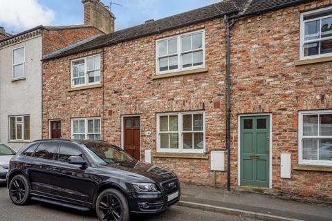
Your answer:
[[[178,202],[176,175],[141,163],[103,141],[37,140],[10,161],[7,186],[13,203],[39,200],[87,211],[100,220],[129,220]]]

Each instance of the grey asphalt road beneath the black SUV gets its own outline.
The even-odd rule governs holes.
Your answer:
[[[30,202],[26,206],[16,206],[12,204],[8,197],[6,186],[0,185],[0,220],[3,221],[97,221],[92,212],[75,211],[61,206],[44,204],[39,202]],[[210,211],[201,211],[199,209],[190,209],[181,206],[172,206],[163,213],[155,215],[136,216],[132,220],[150,221],[150,220],[174,220],[174,221],[199,221],[199,220],[225,220],[225,221],[252,221],[247,218],[241,218],[233,215],[223,215]]]

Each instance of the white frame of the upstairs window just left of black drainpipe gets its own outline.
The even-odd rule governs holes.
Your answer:
[[[202,48],[199,49],[194,49],[194,50],[188,50],[185,52],[182,52],[182,41],[181,41],[181,37],[185,37],[187,35],[194,35],[194,34],[198,34],[198,33],[202,33]],[[178,55],[178,68],[177,69],[172,69],[172,70],[164,70],[164,71],[160,71],[159,70],[159,47],[158,47],[158,43],[160,41],[167,41],[169,39],[177,39],[177,53],[176,54],[169,54],[169,55],[165,55],[165,56],[160,56],[160,57],[169,57],[172,55]],[[182,67],[182,54],[188,53],[188,52],[196,52],[196,51],[200,51],[203,50],[203,64],[200,66],[192,66],[192,67],[187,67],[187,68],[183,68]],[[174,73],[174,72],[178,72],[178,71],[183,71],[183,70],[193,70],[193,69],[199,69],[199,68],[205,68],[205,30],[196,30],[193,32],[185,32],[181,35],[175,35],[175,36],[171,36],[171,37],[166,37],[163,39],[158,39],[156,40],[156,75],[163,75],[163,74],[167,74],[167,73]]]

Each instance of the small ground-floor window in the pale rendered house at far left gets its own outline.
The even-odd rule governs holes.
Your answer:
[[[9,117],[9,140],[28,141],[30,140],[30,116],[10,116]]]

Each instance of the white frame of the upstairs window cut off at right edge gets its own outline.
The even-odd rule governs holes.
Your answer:
[[[299,35],[299,59],[300,60],[315,59],[315,58],[320,58],[320,57],[331,57],[332,56],[332,52],[331,53],[322,54],[322,55],[304,56],[304,48],[303,48],[304,44],[306,44],[306,43],[315,42],[315,41],[321,42],[321,41],[324,41],[324,40],[332,39],[332,36],[329,36],[329,37],[318,38],[318,39],[311,39],[311,40],[304,41],[304,34],[305,34],[304,23],[305,22],[315,21],[317,19],[320,19],[320,22],[322,22],[322,19],[325,19],[327,17],[331,17],[332,14],[331,15],[326,15],[324,17],[318,17],[318,18],[315,18],[315,19],[308,19],[306,21],[304,21],[304,15],[316,14],[316,13],[323,12],[325,10],[331,10],[331,9],[332,9],[332,6],[301,13],[301,16],[300,16],[300,35]],[[320,32],[319,32],[319,34],[320,34]],[[318,50],[320,51],[320,47],[319,47]]]

